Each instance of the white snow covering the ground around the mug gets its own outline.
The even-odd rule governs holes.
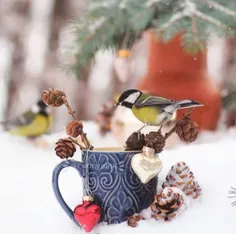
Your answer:
[[[99,136],[94,123],[84,124],[93,144],[116,146],[111,135]],[[53,143],[61,137],[65,134],[58,133],[44,139]],[[144,220],[137,228],[127,226],[126,222],[110,226],[100,224],[91,233],[220,234],[235,230],[236,209],[231,206],[234,199],[227,198],[230,187],[236,185],[235,138],[236,130],[203,133],[198,143],[180,145],[159,155],[163,162],[159,185],[173,164],[185,161],[202,188],[202,196],[198,200],[186,201],[188,209],[171,222]],[[206,139],[208,141],[204,143]],[[85,233],[67,217],[54,197],[51,176],[61,160],[56,157],[53,144],[43,149],[7,133],[0,134],[0,142],[0,233]],[[78,152],[75,159],[79,158]],[[61,190],[72,209],[82,200],[80,183],[81,179],[73,169],[64,171],[60,179]]]

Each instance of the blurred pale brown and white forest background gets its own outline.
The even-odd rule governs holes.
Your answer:
[[[63,89],[79,119],[95,119],[102,103],[124,88],[134,87],[145,74],[148,41],[132,48],[131,73],[122,84],[114,71],[115,55],[98,53],[81,79],[67,74],[62,64],[73,43],[71,22],[88,0],[0,0],[0,120],[18,115],[40,98],[45,88]],[[209,44],[208,65],[217,82],[235,79],[236,46],[218,38]],[[230,48],[230,49],[227,49]],[[173,55],[174,56],[174,55]],[[54,109],[53,130],[68,121],[64,108]]]

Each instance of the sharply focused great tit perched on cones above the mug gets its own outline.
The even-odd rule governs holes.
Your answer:
[[[174,101],[163,97],[151,96],[137,89],[129,89],[123,92],[116,106],[119,105],[131,109],[134,116],[145,124],[141,129],[146,125],[162,126],[170,121],[179,109],[203,106],[193,100]]]

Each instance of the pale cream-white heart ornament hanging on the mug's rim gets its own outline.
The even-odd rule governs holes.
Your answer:
[[[155,155],[147,156],[144,153],[139,153],[132,157],[131,167],[140,181],[146,184],[160,173],[162,162]]]

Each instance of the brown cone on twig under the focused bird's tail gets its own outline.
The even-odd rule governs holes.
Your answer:
[[[185,142],[193,142],[198,136],[198,125],[189,117],[182,119],[176,126],[176,133],[181,140]]]

